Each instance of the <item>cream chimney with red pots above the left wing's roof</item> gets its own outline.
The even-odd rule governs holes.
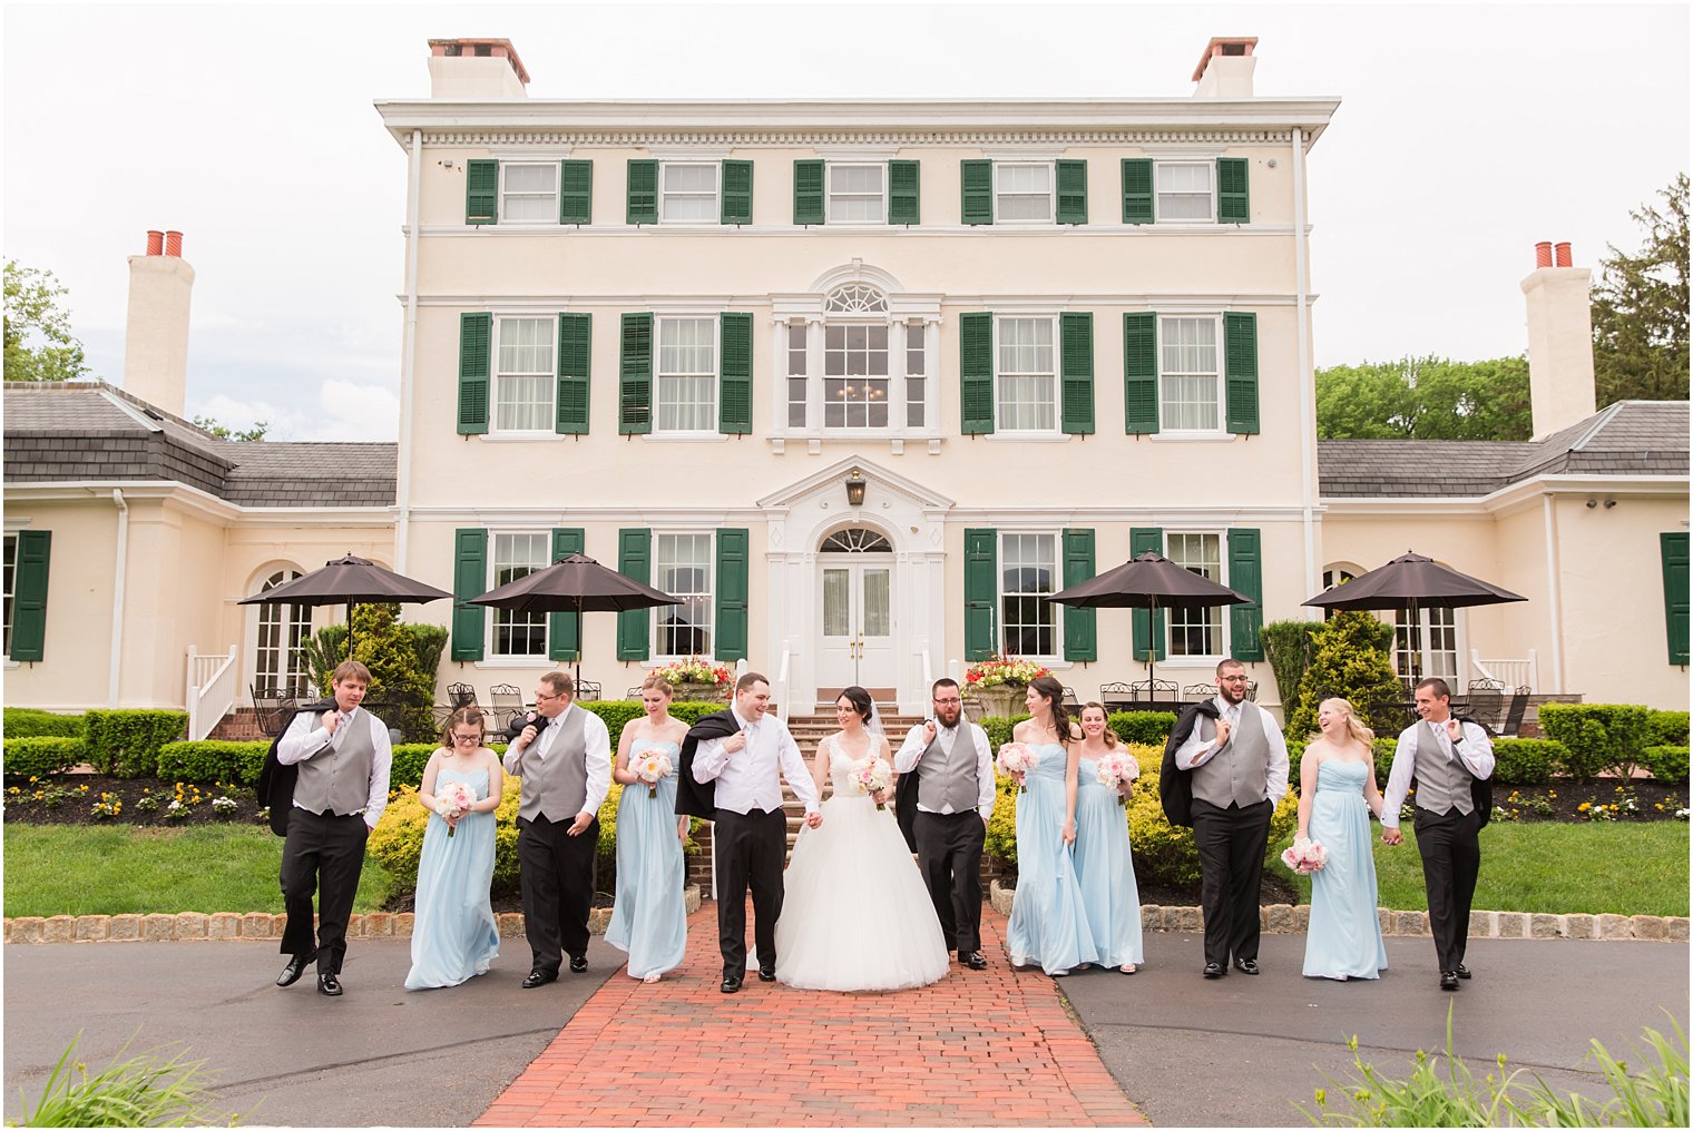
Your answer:
[[[195,269],[181,232],[147,232],[147,254],[129,257],[124,391],[183,415],[188,393],[188,300]]]

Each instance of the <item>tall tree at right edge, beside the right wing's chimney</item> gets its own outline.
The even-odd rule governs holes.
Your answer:
[[[1593,284],[1593,379],[1598,406],[1688,396],[1688,174],[1678,173],[1629,215],[1644,229],[1635,254],[1608,247]]]

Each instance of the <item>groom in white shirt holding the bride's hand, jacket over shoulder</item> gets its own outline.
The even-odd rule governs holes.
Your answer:
[[[714,821],[718,870],[718,948],[725,994],[738,994],[747,977],[747,889],[752,887],[758,980],[775,980],[775,919],[782,914],[782,865],[787,814],[782,779],[806,803],[806,825],[823,825],[818,787],[782,720],[765,716],[770,681],[747,672],[735,682],[735,703],[699,720],[677,757],[677,813]]]

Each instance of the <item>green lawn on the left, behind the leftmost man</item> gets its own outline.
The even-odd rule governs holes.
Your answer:
[[[171,914],[283,909],[283,840],[267,828],[5,826],[5,914]],[[388,899],[366,858],[354,911]]]

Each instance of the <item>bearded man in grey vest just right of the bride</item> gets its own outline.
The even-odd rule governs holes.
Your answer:
[[[946,945],[958,962],[985,970],[982,957],[982,845],[994,816],[994,762],[987,731],[963,718],[951,679],[931,689],[935,718],[913,726],[894,755],[897,804],[916,806],[918,865]]]

